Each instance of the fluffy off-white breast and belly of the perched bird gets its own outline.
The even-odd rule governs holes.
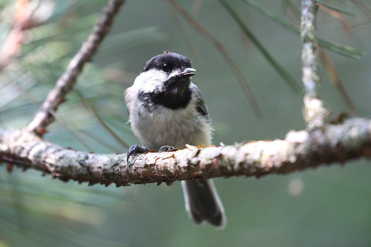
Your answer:
[[[127,90],[131,128],[142,145],[158,151],[161,146],[185,148],[185,144],[198,146],[211,144],[212,127],[196,110],[194,97],[185,109],[172,110],[158,106],[153,112],[145,109],[137,97]],[[132,110],[132,109],[135,109]]]

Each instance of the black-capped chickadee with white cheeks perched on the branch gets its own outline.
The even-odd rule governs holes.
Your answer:
[[[195,71],[187,57],[168,51],[146,63],[125,92],[131,128],[143,145],[132,146],[128,159],[147,150],[211,144],[213,128],[207,107],[200,90],[190,80]],[[223,228],[226,216],[213,182],[197,179],[181,184],[185,208],[193,222],[206,221]]]

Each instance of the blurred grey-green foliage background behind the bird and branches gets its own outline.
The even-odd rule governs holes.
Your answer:
[[[254,113],[225,54],[171,2],[128,0],[121,7],[75,91],[55,113],[45,140],[97,153],[126,153],[128,146],[139,144],[126,123],[124,91],[145,62],[165,50],[189,57],[197,69],[193,82],[209,107],[214,144],[284,138],[289,130],[305,128],[301,42],[295,34],[300,1],[178,0],[237,65],[261,117]],[[325,69],[331,67],[328,61],[322,63],[321,94],[331,111],[329,118],[341,113],[369,116],[371,5],[362,0],[319,3],[318,36],[328,41],[323,43],[328,48],[325,53],[345,88],[333,85],[328,74],[334,78],[334,70]],[[0,2],[1,127],[23,128],[29,123],[105,4],[103,0]],[[25,6],[34,9],[37,21],[22,32],[22,44],[11,59],[5,59],[9,36]],[[345,94],[354,109],[344,100]],[[0,247],[370,246],[370,174],[369,162],[360,160],[285,176],[215,179],[227,214],[226,228],[215,230],[192,225],[179,183],[88,187],[42,177],[33,170],[14,168],[8,173],[3,165]]]

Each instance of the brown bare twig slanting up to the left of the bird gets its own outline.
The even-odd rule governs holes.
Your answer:
[[[53,121],[53,114],[50,113],[56,111],[58,106],[65,101],[66,94],[72,89],[84,64],[91,60],[99,44],[111,28],[114,16],[122,3],[124,3],[124,0],[109,0],[104,13],[94,26],[92,33],[70,61],[67,70],[58,79],[55,87],[49,92],[41,109],[28,124],[26,128],[28,131],[33,131],[38,135],[45,133],[45,128]]]

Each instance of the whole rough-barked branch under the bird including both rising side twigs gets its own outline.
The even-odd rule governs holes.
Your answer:
[[[117,11],[122,2],[111,0],[111,4],[118,5],[111,6],[112,9],[107,7],[106,12],[108,9]],[[51,122],[47,115],[62,103],[81,72],[83,63],[96,50],[104,37],[100,32],[107,31],[101,28],[108,29],[110,26],[100,26],[98,23],[87,42],[94,43],[95,47],[85,47],[88,46],[86,43],[83,45],[83,51],[71,61],[66,73],[50,92],[43,109],[29,126],[25,130],[0,128],[0,161],[8,161],[24,169],[35,168],[63,181],[127,186],[162,182],[171,184],[175,180],[192,178],[286,174],[320,164],[344,163],[354,158],[370,157],[370,119],[354,118],[338,125],[325,123],[327,110],[319,98],[315,1],[303,0],[302,3],[306,130],[290,131],[284,140],[252,141],[235,146],[206,148],[188,146],[175,152],[140,154],[132,160],[130,166],[126,163],[126,154],[86,153],[43,141],[35,133],[42,134]],[[109,14],[110,18],[113,15],[113,12]],[[95,37],[95,34],[99,37]]]

